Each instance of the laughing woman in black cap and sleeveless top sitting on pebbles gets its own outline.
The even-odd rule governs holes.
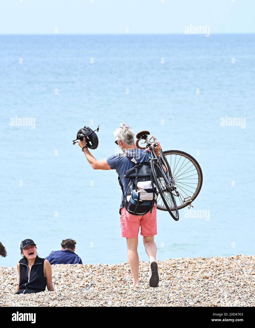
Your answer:
[[[20,244],[23,258],[17,263],[19,273],[18,291],[15,294],[30,294],[45,291],[53,292],[51,265],[48,260],[37,255],[36,244],[25,239]]]

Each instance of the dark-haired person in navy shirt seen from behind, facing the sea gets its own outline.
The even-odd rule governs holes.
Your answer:
[[[81,258],[74,253],[76,241],[73,239],[63,239],[61,251],[53,251],[45,257],[52,264],[82,264]]]

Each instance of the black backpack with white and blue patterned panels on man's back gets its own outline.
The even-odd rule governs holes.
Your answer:
[[[124,206],[127,212],[133,215],[144,215],[149,211],[151,213],[158,197],[158,191],[153,181],[150,160],[137,163],[131,155],[124,153],[124,156],[136,164],[123,175],[125,178],[130,179],[126,195],[120,177],[118,177],[123,193]]]

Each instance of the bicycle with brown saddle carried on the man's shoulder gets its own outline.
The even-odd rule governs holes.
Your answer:
[[[192,201],[199,194],[203,183],[202,170],[194,157],[182,151],[162,151],[161,149],[161,156],[159,158],[154,151],[154,148],[157,146],[157,138],[154,135],[148,138],[149,134],[149,131],[137,133],[136,147],[150,150],[150,167],[154,182],[159,191],[157,209],[168,211],[172,218],[178,221],[178,210],[186,206],[189,209],[193,207]],[[139,141],[142,139],[145,140],[143,144],[147,144],[146,147],[139,145]],[[153,139],[153,142],[151,142],[151,139]],[[167,156],[170,160],[170,165]],[[165,166],[167,172],[164,171],[162,164]]]

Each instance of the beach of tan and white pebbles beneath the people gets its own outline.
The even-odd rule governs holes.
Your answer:
[[[148,285],[149,262],[140,262],[133,287],[127,262],[52,265],[54,292],[14,295],[17,268],[0,267],[0,306],[255,306],[255,256],[158,261],[159,286]]]

